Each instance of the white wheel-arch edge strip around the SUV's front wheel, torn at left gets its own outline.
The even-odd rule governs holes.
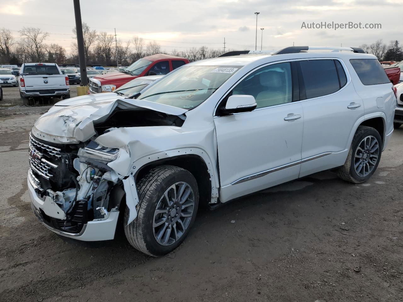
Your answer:
[[[126,205],[129,208],[129,219],[127,224],[131,223],[137,217],[136,206],[139,203],[139,197],[137,194],[137,188],[135,183],[135,175],[145,165],[158,161],[160,159],[169,159],[171,157],[177,157],[180,155],[197,155],[202,158],[207,166],[208,173],[210,174],[210,181],[212,186],[211,198],[212,200],[218,199],[218,173],[215,165],[215,161],[212,161],[208,153],[198,147],[186,147],[179,149],[172,149],[167,151],[160,151],[151,155],[146,155],[134,161],[131,164],[129,170],[129,176],[123,180],[123,186],[126,192]],[[213,164],[214,163],[214,164]]]

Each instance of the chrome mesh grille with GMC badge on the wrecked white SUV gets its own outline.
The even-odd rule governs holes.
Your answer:
[[[50,179],[52,174],[52,168],[57,168],[58,165],[46,160],[46,157],[60,158],[60,149],[46,145],[37,141],[29,134],[29,165],[31,169],[40,176]]]

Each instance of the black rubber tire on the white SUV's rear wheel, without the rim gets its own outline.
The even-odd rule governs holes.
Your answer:
[[[365,177],[362,177],[362,176],[359,176],[357,174],[357,172],[355,172],[354,155],[355,155],[355,152],[357,151],[357,148],[358,148],[359,144],[361,143],[361,141],[369,135],[372,135],[378,141],[379,154],[378,154],[378,160],[376,161],[376,164],[374,165],[374,169],[368,175],[366,175]],[[379,164],[381,155],[382,155],[382,138],[380,137],[379,132],[375,128],[372,128],[372,127],[359,126],[357,131],[354,134],[353,141],[351,142],[351,147],[350,147],[347,159],[346,159],[344,165],[341,166],[339,168],[339,170],[337,171],[337,175],[341,179],[346,180],[348,182],[352,182],[353,184],[359,184],[361,182],[365,182],[372,176],[372,174],[374,174],[374,172],[376,171],[376,168],[378,168],[378,164]]]

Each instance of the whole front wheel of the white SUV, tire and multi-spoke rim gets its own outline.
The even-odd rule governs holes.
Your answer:
[[[137,250],[162,256],[177,248],[189,233],[199,205],[199,189],[187,170],[162,165],[153,168],[138,183],[137,218],[124,227],[126,238]]]

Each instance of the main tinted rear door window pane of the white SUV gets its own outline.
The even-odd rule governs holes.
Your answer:
[[[332,94],[340,89],[339,77],[333,60],[300,61],[306,98]]]

